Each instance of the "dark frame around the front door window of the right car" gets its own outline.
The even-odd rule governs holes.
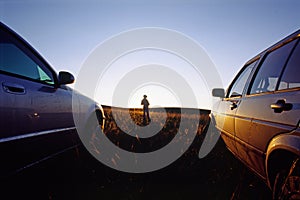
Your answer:
[[[242,92],[242,96],[236,96],[236,97],[229,97],[229,93],[231,91],[231,89],[233,88],[234,84],[236,83],[236,81],[239,79],[239,77],[242,75],[242,73],[251,65],[253,64],[254,62],[255,65],[253,66],[253,69],[252,71],[250,72],[248,78],[247,78],[247,81],[245,83],[245,86],[243,88],[243,92]],[[257,68],[257,65],[259,64],[260,62],[260,55],[254,57],[253,59],[249,60],[243,67],[242,69],[238,72],[238,74],[234,77],[234,79],[231,81],[231,84],[229,85],[228,89],[226,90],[226,94],[225,94],[225,100],[227,99],[238,99],[238,98],[242,98],[244,97],[247,93],[246,91],[248,90],[249,88],[249,84],[250,84],[250,81],[252,80],[252,77],[253,77],[253,73],[256,71],[256,68]]]

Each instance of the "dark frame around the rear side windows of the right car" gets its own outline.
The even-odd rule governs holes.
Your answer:
[[[283,90],[278,90],[279,83],[280,83],[281,77],[282,77],[282,75],[283,75],[284,69],[286,68],[286,65],[287,65],[287,63],[288,63],[288,61],[289,61],[291,55],[293,54],[293,52],[294,52],[294,50],[295,50],[297,44],[299,43],[299,40],[300,40],[299,36],[300,36],[300,35],[297,35],[297,36],[295,36],[295,37],[293,37],[293,38],[287,39],[287,40],[283,41],[282,43],[276,44],[275,46],[272,46],[271,48],[269,48],[269,49],[267,49],[266,51],[264,51],[263,53],[261,53],[261,59],[259,60],[258,64],[256,65],[256,68],[253,70],[253,75],[252,75],[252,78],[251,78],[250,83],[249,83],[249,85],[248,85],[248,89],[247,89],[247,91],[246,91],[246,96],[247,96],[247,97],[251,97],[251,96],[261,96],[261,95],[268,95],[268,94],[274,94],[274,93],[278,93],[278,92],[282,92],[282,91],[283,91]],[[280,71],[280,74],[279,74],[279,76],[278,76],[278,81],[277,81],[277,83],[276,83],[275,90],[274,90],[274,91],[267,91],[267,92],[261,92],[261,93],[253,93],[253,94],[250,94],[252,85],[254,84],[255,77],[257,76],[257,73],[259,72],[261,66],[263,65],[263,63],[264,63],[265,59],[268,57],[268,55],[269,55],[271,52],[273,52],[273,51],[279,49],[280,47],[282,47],[282,46],[284,46],[284,45],[286,45],[286,44],[288,44],[288,43],[290,43],[290,42],[293,42],[294,40],[297,40],[297,39],[298,39],[298,41],[295,42],[294,46],[292,47],[292,50],[291,50],[290,54],[288,55],[288,57],[287,57],[287,59],[286,59],[286,61],[285,61],[284,66],[282,67],[282,69],[281,69],[281,71]],[[296,88],[296,89],[298,89],[298,88]],[[292,88],[292,89],[285,89],[285,91],[286,91],[286,90],[295,90],[295,88]]]

